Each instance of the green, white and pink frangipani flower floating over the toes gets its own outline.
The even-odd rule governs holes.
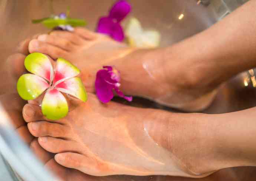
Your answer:
[[[87,94],[79,69],[63,58],[58,58],[55,69],[49,58],[41,53],[29,54],[24,61],[32,74],[23,74],[17,82],[17,90],[24,100],[33,100],[45,92],[42,113],[48,119],[57,120],[68,114],[68,102],[62,93],[85,102]]]

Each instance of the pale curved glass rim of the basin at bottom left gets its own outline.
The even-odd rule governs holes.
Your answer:
[[[10,123],[9,116],[0,105],[0,152],[10,166],[25,181],[60,181],[43,167]]]

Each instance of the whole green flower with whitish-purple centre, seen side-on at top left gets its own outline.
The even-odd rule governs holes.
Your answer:
[[[86,25],[85,20],[69,18],[65,13],[60,13],[59,16],[50,16],[39,20],[32,20],[32,23],[42,23],[47,28],[66,31],[73,31],[73,27]]]

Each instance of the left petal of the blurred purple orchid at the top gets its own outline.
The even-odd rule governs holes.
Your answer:
[[[110,35],[112,33],[112,25],[114,22],[109,17],[102,17],[99,19],[97,32]]]

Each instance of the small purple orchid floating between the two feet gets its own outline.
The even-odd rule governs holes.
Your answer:
[[[98,96],[99,100],[101,100],[103,103],[109,102],[114,97],[113,90],[115,90],[119,97],[131,102],[132,96],[125,96],[124,93],[119,90],[119,86],[121,85],[119,83],[119,71],[112,66],[103,66],[103,68],[104,69],[97,72],[95,81],[96,95]]]

